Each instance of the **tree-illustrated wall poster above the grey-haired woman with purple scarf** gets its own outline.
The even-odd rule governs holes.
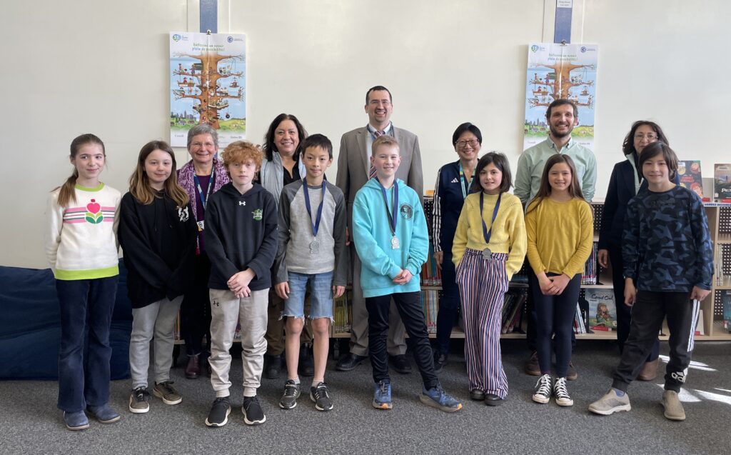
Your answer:
[[[170,144],[208,123],[219,145],[246,138],[246,35],[170,33]]]

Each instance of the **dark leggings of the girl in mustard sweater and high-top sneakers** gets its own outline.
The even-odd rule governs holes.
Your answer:
[[[557,274],[547,274],[555,277]],[[529,272],[531,296],[536,315],[536,350],[541,374],[550,374],[551,337],[556,334],[556,376],[566,377],[571,361],[571,337],[573,334],[576,304],[581,287],[581,274],[576,274],[558,296],[545,296],[538,285],[538,278]]]

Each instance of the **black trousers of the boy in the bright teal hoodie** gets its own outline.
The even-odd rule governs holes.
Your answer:
[[[439,379],[434,373],[434,360],[429,344],[429,336],[424,321],[424,310],[421,303],[421,293],[394,293],[386,296],[367,297],[368,309],[368,351],[373,367],[373,379],[376,383],[385,380],[388,376],[388,353],[386,339],[388,337],[388,313],[391,307],[391,298],[395,303],[398,315],[409,334],[408,344],[414,353],[424,387],[429,389],[439,386]]]

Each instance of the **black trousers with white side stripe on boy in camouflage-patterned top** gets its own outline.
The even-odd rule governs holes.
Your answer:
[[[624,342],[619,366],[614,372],[612,387],[626,391],[629,383],[640,374],[657,340],[662,320],[667,316],[670,361],[665,371],[665,390],[679,392],[688,375],[699,307],[699,302],[690,300],[689,293],[638,290],[632,307],[632,326]]]

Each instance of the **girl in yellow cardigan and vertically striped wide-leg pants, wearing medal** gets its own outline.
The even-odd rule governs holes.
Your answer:
[[[472,194],[464,201],[452,261],[462,302],[469,396],[499,405],[507,396],[500,353],[500,324],[508,282],[526,256],[526,227],[504,154],[477,162]]]

